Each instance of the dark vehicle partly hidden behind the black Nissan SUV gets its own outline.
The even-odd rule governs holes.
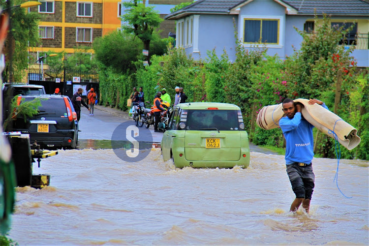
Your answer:
[[[2,113],[6,119],[9,115],[11,100],[16,95],[43,95],[46,94],[45,88],[40,85],[27,85],[21,83],[5,83],[2,85]]]

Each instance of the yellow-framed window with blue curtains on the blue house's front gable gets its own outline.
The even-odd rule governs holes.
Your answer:
[[[244,43],[279,43],[278,19],[244,19]]]

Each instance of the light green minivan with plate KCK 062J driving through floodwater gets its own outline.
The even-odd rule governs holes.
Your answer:
[[[240,107],[228,103],[190,102],[176,105],[161,140],[164,161],[178,168],[246,168],[248,135]]]

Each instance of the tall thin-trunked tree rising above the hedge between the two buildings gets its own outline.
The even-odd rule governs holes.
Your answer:
[[[122,28],[126,33],[132,33],[144,43],[144,49],[149,51],[148,62],[150,64],[150,42],[153,39],[154,29],[163,21],[158,12],[152,6],[145,6],[145,0],[130,0],[123,2],[125,14],[122,20],[126,25]]]

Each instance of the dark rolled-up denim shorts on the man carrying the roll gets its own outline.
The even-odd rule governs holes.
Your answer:
[[[299,163],[295,162],[286,165],[286,171],[296,198],[311,199],[315,182],[312,164],[299,166]]]

